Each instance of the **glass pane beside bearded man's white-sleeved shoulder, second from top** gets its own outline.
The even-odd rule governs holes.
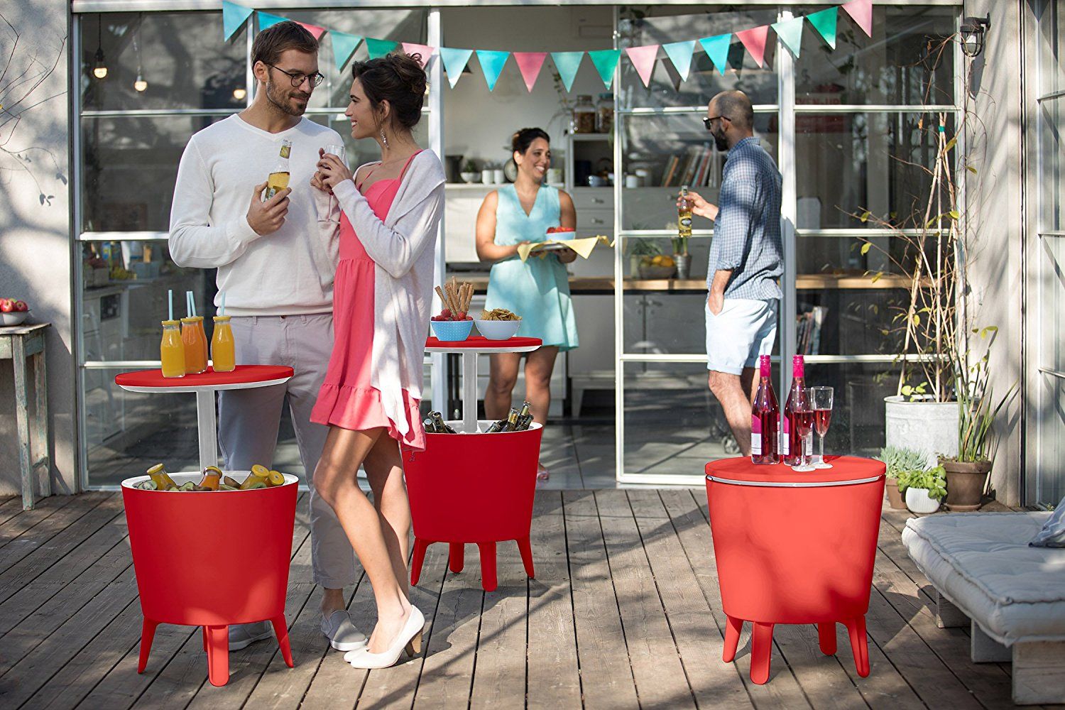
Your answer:
[[[82,231],[167,231],[185,144],[196,131],[224,118],[83,118]]]

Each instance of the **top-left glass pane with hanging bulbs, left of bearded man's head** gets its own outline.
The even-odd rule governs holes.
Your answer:
[[[245,105],[246,29],[222,42],[218,13],[80,15],[84,110],[232,109]],[[97,49],[108,68],[93,76]],[[133,84],[141,77],[144,92]]]

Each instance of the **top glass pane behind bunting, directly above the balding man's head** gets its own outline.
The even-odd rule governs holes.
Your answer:
[[[683,14],[676,14],[683,13]],[[677,37],[699,37],[725,34],[776,21],[775,9],[721,12],[707,9],[692,13],[691,7],[656,7],[640,5],[621,9],[618,26],[619,47],[639,47],[675,42]],[[765,66],[755,64],[733,36],[728,49],[728,69],[724,76],[714,66],[703,48],[697,43],[687,81],[672,62],[660,52],[662,61],[655,64],[650,87],[637,75],[632,62],[621,62],[619,105],[637,106],[701,106],[718,92],[739,88],[753,103],[776,103],[777,80],[775,42],[766,46]]]

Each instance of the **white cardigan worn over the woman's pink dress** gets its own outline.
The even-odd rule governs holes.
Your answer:
[[[403,391],[422,398],[425,339],[432,315],[433,253],[444,211],[444,168],[431,150],[415,155],[384,221],[351,180],[333,187],[333,195],[376,264],[371,383],[380,391],[389,419],[406,435]]]

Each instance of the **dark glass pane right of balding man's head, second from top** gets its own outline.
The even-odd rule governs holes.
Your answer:
[[[922,224],[937,125],[919,113],[797,115],[797,227]],[[953,134],[948,117],[946,135]],[[866,222],[855,216],[864,211],[872,213]]]

